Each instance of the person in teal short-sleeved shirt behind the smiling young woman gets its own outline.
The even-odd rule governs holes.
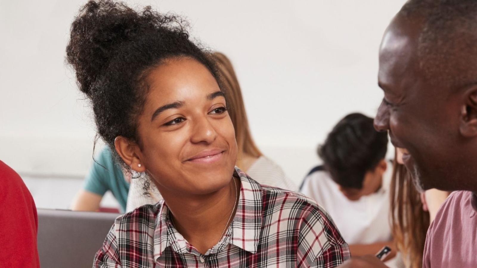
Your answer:
[[[124,176],[121,167],[116,165],[109,147],[104,148],[94,159],[83,189],[78,191],[71,209],[97,211],[104,194],[111,191],[124,212],[129,192],[129,176]]]

